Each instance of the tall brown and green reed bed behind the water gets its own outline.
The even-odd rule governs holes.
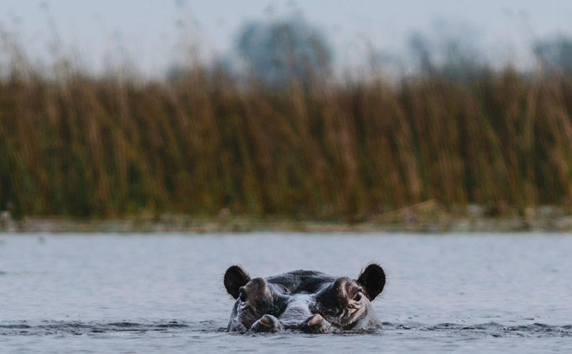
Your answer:
[[[572,80],[0,80],[0,209],[361,218],[434,199],[572,201]]]

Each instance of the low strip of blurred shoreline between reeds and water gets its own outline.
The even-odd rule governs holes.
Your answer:
[[[0,217],[0,233],[463,233],[463,232],[572,232],[572,215],[562,208],[527,208],[521,216],[514,210],[501,215],[483,207],[469,206],[462,212],[447,212],[428,201],[408,208],[361,219],[295,219],[288,217],[234,216],[222,210],[216,217],[183,214],[131,217]]]

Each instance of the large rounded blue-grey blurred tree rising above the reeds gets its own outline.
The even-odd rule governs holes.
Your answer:
[[[236,50],[250,72],[268,85],[284,85],[291,79],[308,83],[331,68],[327,38],[300,15],[248,22],[239,31]]]

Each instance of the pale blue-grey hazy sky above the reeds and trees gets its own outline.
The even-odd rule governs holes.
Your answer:
[[[363,65],[368,49],[399,58],[412,33],[458,36],[489,61],[527,67],[534,40],[572,35],[569,0],[3,0],[0,31],[37,65],[63,55],[94,72],[129,62],[160,76],[189,53],[232,56],[245,22],[293,12],[329,37],[338,67]]]

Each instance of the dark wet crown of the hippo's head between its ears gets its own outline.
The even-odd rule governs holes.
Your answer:
[[[333,283],[336,278],[320,271],[290,271],[278,276],[270,276],[266,281],[284,294],[315,294]]]

